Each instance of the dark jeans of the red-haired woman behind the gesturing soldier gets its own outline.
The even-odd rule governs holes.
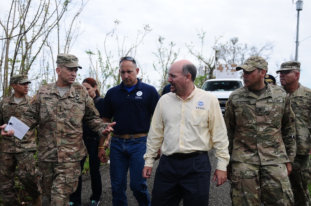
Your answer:
[[[89,166],[90,166],[91,188],[92,188],[92,195],[90,197],[90,201],[92,200],[99,201],[102,193],[101,176],[99,171],[100,160],[97,157],[99,137],[83,137],[83,141],[86,146],[87,153],[89,155]],[[80,161],[81,171],[83,170],[85,160],[86,157]],[[70,202],[73,202],[75,204],[81,204],[81,193],[82,193],[82,175],[79,177],[77,190],[70,195],[69,199]]]

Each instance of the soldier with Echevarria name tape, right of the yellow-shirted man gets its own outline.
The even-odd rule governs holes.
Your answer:
[[[295,158],[295,116],[286,92],[264,81],[266,60],[249,57],[244,87],[231,93],[225,108],[232,205],[294,205],[288,175]]]

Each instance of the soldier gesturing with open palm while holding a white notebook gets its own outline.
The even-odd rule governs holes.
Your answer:
[[[34,128],[39,125],[39,176],[41,188],[50,205],[67,206],[77,189],[80,160],[87,152],[82,140],[82,121],[100,137],[113,131],[115,123],[103,123],[86,88],[75,82],[78,58],[58,54],[57,82],[39,88],[21,121]],[[12,135],[10,130],[2,134]]]

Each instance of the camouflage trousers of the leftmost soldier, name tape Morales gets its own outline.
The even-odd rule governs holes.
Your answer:
[[[30,197],[35,198],[41,195],[34,154],[35,151],[0,152],[0,191],[3,205],[20,205],[15,190],[15,175]],[[17,174],[15,174],[16,167]]]

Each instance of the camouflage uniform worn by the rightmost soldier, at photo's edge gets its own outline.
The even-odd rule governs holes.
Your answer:
[[[284,87],[281,87],[284,88]],[[284,88],[285,89],[285,88]],[[311,183],[311,160],[308,155],[311,141],[311,89],[299,83],[299,88],[289,96],[295,115],[297,154],[292,163],[290,182],[295,205],[311,204],[308,185]]]

